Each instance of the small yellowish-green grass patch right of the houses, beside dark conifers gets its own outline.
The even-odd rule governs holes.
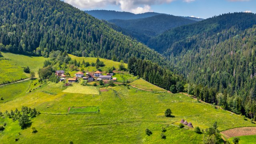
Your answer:
[[[163,88],[160,88],[158,86],[150,84],[149,82],[147,82],[146,80],[143,80],[141,78],[138,80],[135,80],[134,82],[131,82],[130,85],[135,86],[137,88],[142,88],[144,90],[154,91],[154,92],[167,91],[167,90],[164,90]]]

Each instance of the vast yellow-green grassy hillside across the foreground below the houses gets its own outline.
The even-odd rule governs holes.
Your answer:
[[[34,82],[33,82],[34,83]],[[202,143],[202,134],[193,129],[180,129],[171,124],[182,118],[193,126],[208,128],[214,121],[219,130],[241,126],[254,126],[240,116],[228,111],[215,109],[209,104],[198,103],[183,94],[147,92],[127,86],[111,87],[113,90],[100,94],[80,94],[63,92],[62,83],[45,83],[30,93],[25,92],[30,81],[0,87],[6,93],[1,102],[1,111],[20,109],[22,106],[37,108],[41,114],[32,118],[32,127],[38,132],[32,134],[31,128],[21,130],[18,122],[0,118],[0,124],[7,123],[0,132],[4,144],[14,143]],[[68,88],[79,88],[79,84]],[[152,87],[148,83],[148,87]],[[118,96],[114,93],[118,93]],[[72,106],[98,106],[100,112],[93,114],[68,114]],[[170,108],[173,118],[166,118],[164,111]],[[162,127],[166,127],[166,139],[161,139]],[[151,136],[145,129],[152,131]],[[53,132],[54,131],[54,132]],[[20,134],[18,134],[20,132]]]

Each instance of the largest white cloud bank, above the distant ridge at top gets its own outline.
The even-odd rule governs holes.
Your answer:
[[[103,8],[107,5],[120,6],[121,10],[133,12],[135,14],[152,12],[151,5],[170,3],[175,0],[64,0],[77,8]],[[195,0],[183,0],[184,2],[192,2]]]

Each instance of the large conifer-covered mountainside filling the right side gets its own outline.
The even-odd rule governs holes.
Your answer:
[[[180,26],[151,39],[149,46],[168,57],[176,73],[201,85],[191,92],[198,98],[255,115],[255,14],[223,14]]]

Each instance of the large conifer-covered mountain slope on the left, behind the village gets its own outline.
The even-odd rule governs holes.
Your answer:
[[[160,54],[116,32],[61,0],[1,0],[0,50],[48,57],[52,50],[76,56],[128,61],[130,56],[166,62]]]

